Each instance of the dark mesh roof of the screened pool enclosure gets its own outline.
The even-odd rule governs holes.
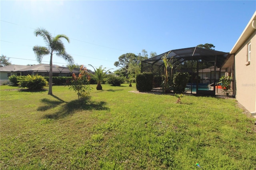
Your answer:
[[[220,67],[226,58],[230,55],[229,53],[216,51],[212,49],[205,49],[200,47],[190,47],[190,48],[182,48],[182,49],[174,49],[171,51],[167,51],[155,57],[146,59],[142,62],[154,64],[154,65],[162,65],[162,57],[167,55],[167,59],[171,57],[175,57],[177,63],[182,63],[187,60],[196,60],[202,59],[203,61],[215,61],[215,57],[217,58],[216,67]]]

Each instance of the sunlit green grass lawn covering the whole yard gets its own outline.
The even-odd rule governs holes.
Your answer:
[[[0,168],[255,170],[255,119],[234,99],[92,87],[78,100],[0,86]]]

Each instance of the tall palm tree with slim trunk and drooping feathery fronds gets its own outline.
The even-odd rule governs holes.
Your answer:
[[[58,57],[62,57],[68,63],[73,64],[74,59],[71,55],[66,52],[64,43],[62,42],[62,38],[69,41],[69,38],[64,34],[58,34],[53,37],[50,32],[45,30],[44,28],[37,28],[34,31],[34,35],[41,36],[46,42],[46,47],[35,45],[33,47],[33,51],[36,54],[36,60],[41,63],[44,55],[50,55],[50,72],[49,72],[49,91],[48,95],[52,95],[52,55],[56,54]]]

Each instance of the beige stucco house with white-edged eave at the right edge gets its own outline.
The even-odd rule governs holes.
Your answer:
[[[256,115],[256,12],[222,65],[234,78],[234,96],[252,115]]]

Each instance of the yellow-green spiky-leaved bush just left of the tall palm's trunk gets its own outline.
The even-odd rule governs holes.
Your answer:
[[[44,86],[48,84],[48,81],[41,75],[26,75],[19,77],[18,85],[23,88],[28,88],[30,90],[41,90]]]

